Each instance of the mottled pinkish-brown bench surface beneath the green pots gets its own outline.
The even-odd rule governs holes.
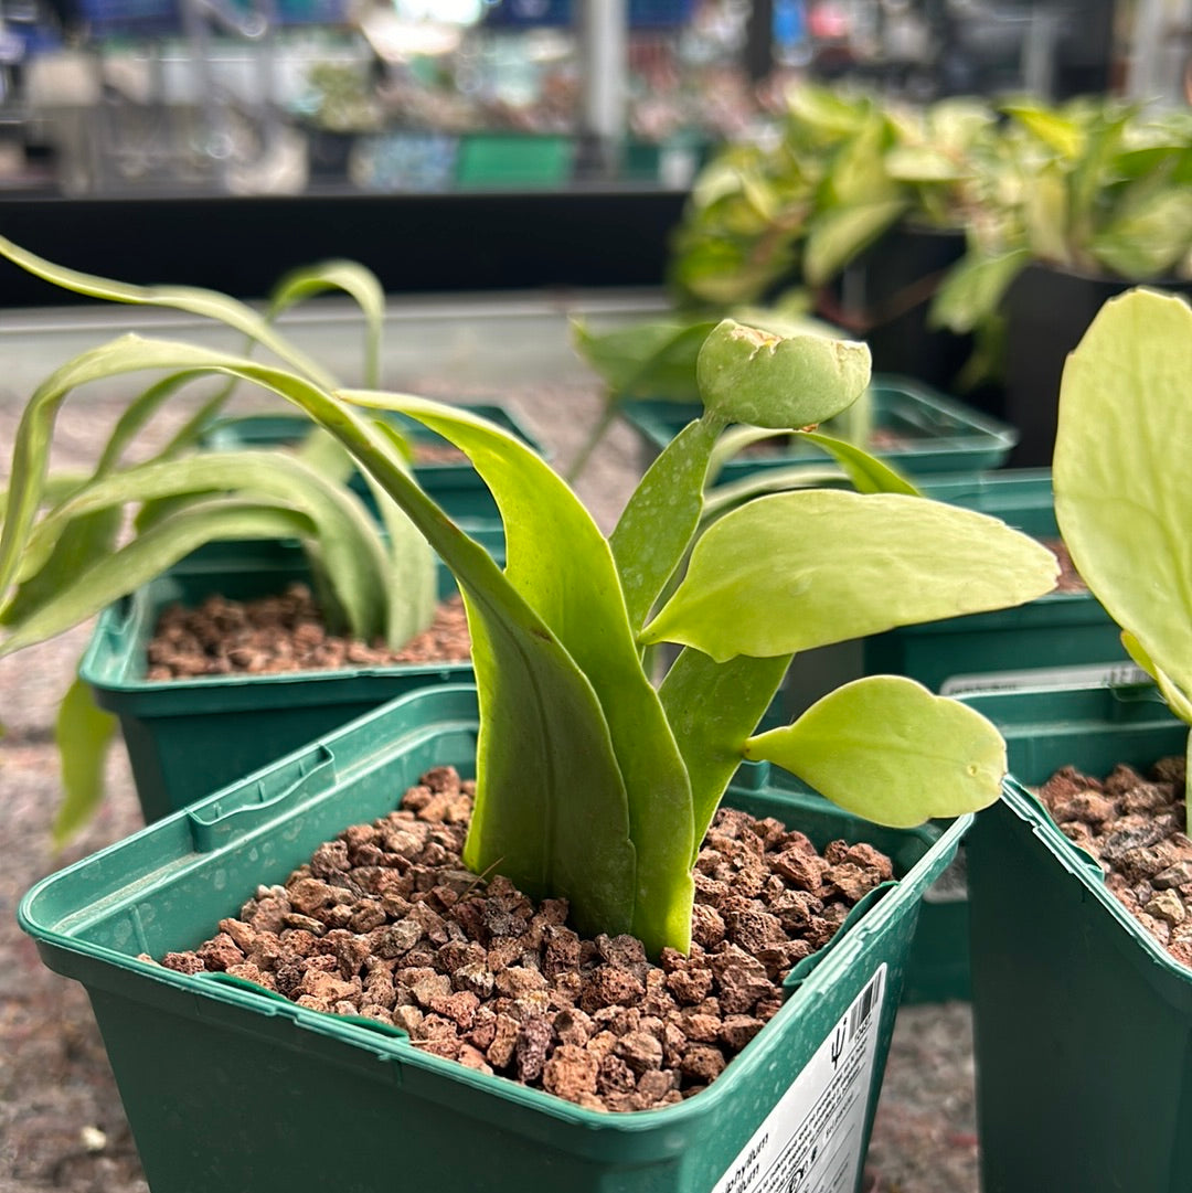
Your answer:
[[[49,366],[47,366],[49,367]],[[519,383],[499,395],[541,434],[566,468],[597,422],[591,378]],[[490,384],[402,379],[402,388],[461,401],[492,400]],[[13,443],[24,395],[0,388],[0,443]],[[55,439],[61,466],[93,462],[119,400],[88,397],[63,412]],[[248,407],[252,408],[252,407]],[[163,412],[160,446],[189,410]],[[148,439],[147,446],[153,446]],[[611,530],[636,480],[637,444],[614,426],[576,484]],[[8,459],[0,459],[6,475]],[[103,1041],[82,989],[41,964],[16,925],[20,895],[38,878],[118,841],[141,824],[123,750],[112,752],[107,795],[61,852],[50,845],[60,801],[54,718],[89,636],[81,626],[55,642],[0,660],[0,1193],[146,1193]],[[887,1065],[869,1156],[866,1193],[977,1193],[971,1014],[947,1003],[903,1008]]]

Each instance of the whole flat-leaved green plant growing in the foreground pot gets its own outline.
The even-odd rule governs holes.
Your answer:
[[[607,537],[544,460],[468,412],[333,391],[185,344],[123,340],[109,351],[112,373],[143,356],[279,394],[418,526],[453,571],[473,636],[480,734],[465,861],[531,895],[566,897],[581,931],[631,932],[651,953],[688,948],[696,853],[742,758],[768,759],[895,826],[998,797],[996,730],[908,679],[858,680],[793,724],[756,733],[796,653],[1019,604],[1055,583],[1055,557],[1039,544],[907,493],[770,494],[698,533],[724,428],[747,420],[797,431],[832,418],[867,383],[864,345],[718,324],[698,358],[703,414],[654,462]],[[371,416],[388,410],[470,457],[502,515],[504,569],[414,483]],[[39,493],[44,443],[25,435],[20,446],[29,480],[0,544],[10,567],[26,550],[24,509]],[[643,655],[659,642],[683,649],[655,686]]]

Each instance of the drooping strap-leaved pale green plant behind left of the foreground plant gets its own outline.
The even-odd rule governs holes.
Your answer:
[[[227,324],[245,336],[246,359],[264,348],[323,389],[333,388],[335,379],[290,344],[274,320],[310,295],[342,291],[364,316],[364,377],[377,383],[384,296],[376,278],[354,262],[294,271],[259,313],[210,291],[129,286],[57,270],[7,241],[0,242],[0,252],[94,298],[172,308]],[[88,382],[134,370],[158,376],[143,391],[134,391],[94,469],[48,476],[54,421],[66,397]],[[345,483],[351,458],[334,437],[315,432],[298,452],[194,452],[230,396],[235,375],[200,402],[163,447],[147,460],[126,463],[129,449],[161,406],[209,375],[205,358],[191,367],[175,353],[130,336],[76,357],[38,387],[18,431],[10,488],[0,505],[0,656],[86,622],[217,539],[302,542],[334,629],[400,644],[430,623],[432,552],[387,497],[379,502],[381,525],[365,511]],[[123,530],[130,514],[131,536]],[[103,798],[103,764],[115,731],[116,718],[97,709],[86,685],[76,680],[56,727],[64,790],[54,824],[57,841],[86,823]]]

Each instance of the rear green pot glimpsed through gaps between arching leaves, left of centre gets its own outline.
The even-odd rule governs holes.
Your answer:
[[[504,431],[517,435],[539,456],[545,456],[543,445],[514,414],[504,406],[469,403],[462,409],[495,422]],[[445,439],[427,431],[421,424],[401,414],[388,419],[415,445],[450,446]],[[203,437],[204,446],[218,451],[235,451],[248,447],[276,447],[296,444],[310,432],[310,421],[301,414],[248,414],[220,419]],[[434,497],[453,521],[494,523],[500,525],[496,502],[488,486],[467,459],[424,460],[415,464],[414,476],[419,484]],[[357,474],[348,482],[366,501],[371,501],[369,487]]]

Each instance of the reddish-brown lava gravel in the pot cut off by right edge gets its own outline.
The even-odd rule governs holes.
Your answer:
[[[1185,760],[1155,764],[1149,778],[1118,766],[1105,780],[1075,767],[1040,789],[1060,830],[1087,849],[1108,889],[1175,960],[1192,966],[1192,841],[1185,834]]]

